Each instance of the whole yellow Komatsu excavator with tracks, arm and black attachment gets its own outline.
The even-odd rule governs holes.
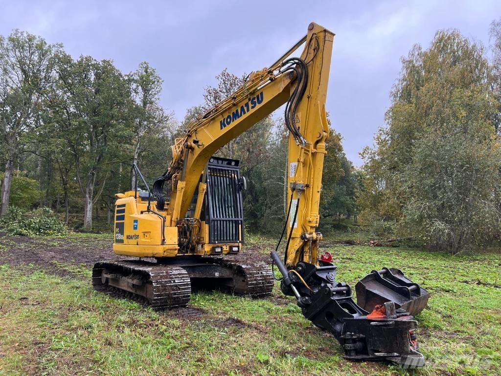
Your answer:
[[[134,186],[115,195],[113,244],[115,254],[133,258],[97,262],[92,274],[96,290],[175,308],[186,306],[197,288],[265,298],[279,280],[281,291],[297,299],[303,315],[335,336],[346,358],[424,365],[414,315],[426,306],[429,293],[400,270],[382,268],[356,284],[357,304],[351,287],[336,280],[332,256],[320,252],[323,237],[317,227],[333,41],[332,32],[311,23],[307,35],[280,59],[251,73],[231,96],[190,122],[151,190],[133,164]],[[302,45],[300,57],[292,57]],[[271,268],[235,262],[228,255],[240,252],[244,240],[246,180],[238,160],[215,154],[283,105],[289,130],[285,225],[271,251]],[[279,254],[282,241],[284,257]]]

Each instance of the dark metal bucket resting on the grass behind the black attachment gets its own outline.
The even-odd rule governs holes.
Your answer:
[[[392,301],[396,308],[413,316],[426,307],[430,297],[428,291],[395,268],[373,270],[355,285],[355,291],[357,304],[366,311],[371,312],[374,307]]]

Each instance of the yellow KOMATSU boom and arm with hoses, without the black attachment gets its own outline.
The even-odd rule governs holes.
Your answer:
[[[288,156],[288,196],[296,220],[289,232],[288,267],[300,260],[316,262],[322,170],[329,136],[325,102],[331,66],[334,34],[310,24],[308,35],[282,56],[271,68],[249,75],[231,96],[191,122],[183,137],[172,146],[172,162],[154,184],[157,208],[164,209],[163,184],[172,184],[166,208],[175,226],[190,207],[207,161],[258,121],[287,103],[285,122],[290,129]],[[291,53],[306,42],[300,58]],[[202,183],[203,184],[203,183]],[[292,218],[291,218],[292,223]]]

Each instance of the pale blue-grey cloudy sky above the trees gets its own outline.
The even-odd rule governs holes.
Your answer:
[[[327,110],[355,165],[384,125],[401,56],[416,43],[428,47],[439,29],[488,47],[489,24],[499,18],[499,0],[0,0],[0,35],[27,31],[75,58],[112,59],[123,72],[149,62],[164,80],[161,104],[180,120],[221,70],[269,66],[314,21],[336,34]]]

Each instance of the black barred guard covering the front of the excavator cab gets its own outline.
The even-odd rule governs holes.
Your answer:
[[[207,165],[206,215],[209,243],[242,241],[242,193],[239,186],[238,161],[210,158]]]

